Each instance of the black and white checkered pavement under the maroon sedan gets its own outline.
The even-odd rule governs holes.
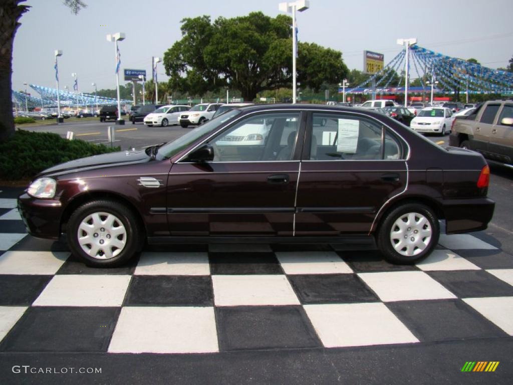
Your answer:
[[[513,256],[441,236],[415,266],[337,245],[148,246],[89,268],[0,192],[0,351],[215,353],[513,335]],[[170,251],[172,250],[172,251]]]

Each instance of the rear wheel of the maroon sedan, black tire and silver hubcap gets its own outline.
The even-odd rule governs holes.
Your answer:
[[[407,203],[394,208],[378,230],[378,247],[391,263],[413,264],[426,258],[438,243],[440,225],[431,208]]]

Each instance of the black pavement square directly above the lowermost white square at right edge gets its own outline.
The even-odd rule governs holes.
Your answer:
[[[427,272],[459,298],[513,296],[513,286],[484,270]]]

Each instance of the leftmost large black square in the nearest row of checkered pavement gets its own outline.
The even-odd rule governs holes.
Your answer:
[[[118,307],[30,307],[0,344],[7,352],[106,352]]]

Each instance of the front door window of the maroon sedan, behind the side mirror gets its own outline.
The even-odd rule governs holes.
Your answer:
[[[214,148],[213,161],[292,160],[299,118],[299,112],[274,112],[243,119],[210,141]]]

